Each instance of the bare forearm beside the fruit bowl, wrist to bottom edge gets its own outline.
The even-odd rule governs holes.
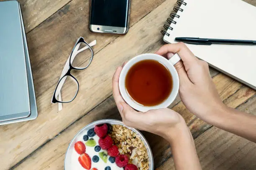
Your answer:
[[[185,125],[176,135],[166,137],[172,148],[176,170],[202,170],[192,135]]]

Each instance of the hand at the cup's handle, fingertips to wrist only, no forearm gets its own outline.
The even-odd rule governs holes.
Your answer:
[[[197,59],[182,42],[163,45],[156,52],[167,59],[174,53],[178,53],[182,59],[175,65],[179,75],[179,95],[182,102],[192,113],[209,122],[226,106],[220,100],[212,82],[207,62]]]

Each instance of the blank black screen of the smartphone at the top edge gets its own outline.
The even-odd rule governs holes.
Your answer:
[[[127,27],[129,0],[92,0],[91,25]]]

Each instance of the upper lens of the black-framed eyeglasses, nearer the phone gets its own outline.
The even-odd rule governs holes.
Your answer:
[[[73,62],[72,62],[73,60]],[[84,69],[90,65],[92,61],[92,50],[84,42],[79,42],[73,51],[71,57],[71,65],[77,69]]]

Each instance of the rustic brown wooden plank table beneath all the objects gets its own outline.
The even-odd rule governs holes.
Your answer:
[[[256,0],[246,0],[256,5]],[[89,0],[20,0],[26,27],[38,118],[0,126],[0,170],[61,170],[64,155],[75,133],[88,123],[120,120],[111,78],[124,61],[163,45],[160,30],[176,0],[132,0],[127,35],[104,35],[89,31]],[[221,5],[221,4],[220,4]],[[239,13],[239,11],[238,11]],[[51,95],[64,63],[79,36],[97,40],[94,59],[86,70],[76,72],[80,89],[76,99],[57,112]],[[256,92],[211,69],[223,102],[256,114]],[[256,169],[256,144],[219,130],[191,114],[177,97],[170,106],[187,122],[205,170]],[[151,145],[155,167],[174,169],[166,140],[144,132]]]

